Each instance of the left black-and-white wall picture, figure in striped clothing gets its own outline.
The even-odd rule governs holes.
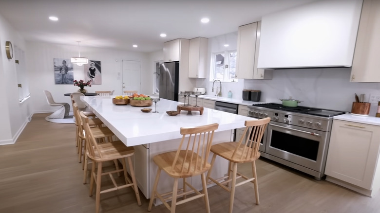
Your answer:
[[[70,59],[54,58],[53,63],[56,84],[73,84],[74,72]]]

